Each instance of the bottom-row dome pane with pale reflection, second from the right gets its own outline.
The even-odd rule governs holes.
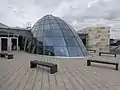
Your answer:
[[[69,56],[66,47],[54,47],[56,56]]]

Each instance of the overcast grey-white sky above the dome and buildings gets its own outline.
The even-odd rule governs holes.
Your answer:
[[[120,20],[120,0],[1,0],[0,22],[8,26],[32,25],[47,14],[58,16],[74,28]]]

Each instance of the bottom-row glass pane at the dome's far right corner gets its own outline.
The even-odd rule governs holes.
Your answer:
[[[67,47],[71,57],[83,56],[80,47]]]

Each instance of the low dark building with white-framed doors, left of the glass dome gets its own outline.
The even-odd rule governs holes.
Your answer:
[[[32,37],[32,33],[27,29],[4,27],[0,25],[0,52],[24,50],[24,41],[27,37]]]

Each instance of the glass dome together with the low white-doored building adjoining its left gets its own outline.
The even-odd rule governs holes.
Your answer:
[[[31,29],[0,24],[0,51],[24,50],[50,56],[85,57],[86,49],[77,32],[52,15],[38,20]]]

